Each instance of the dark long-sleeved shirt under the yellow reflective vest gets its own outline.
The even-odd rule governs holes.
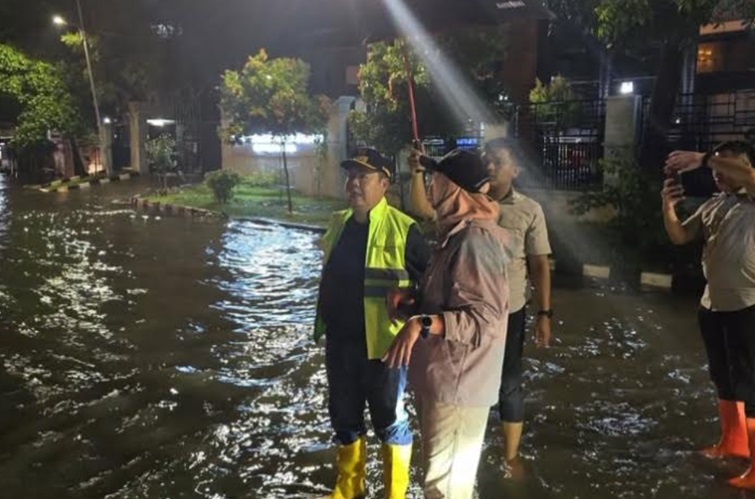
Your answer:
[[[330,253],[320,283],[320,313],[329,340],[366,345],[364,329],[364,264],[369,223],[354,217],[344,225]],[[430,259],[430,248],[416,225],[409,228],[404,253],[406,270],[418,282]]]

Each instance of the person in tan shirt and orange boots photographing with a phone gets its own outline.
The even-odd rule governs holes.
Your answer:
[[[737,456],[750,468],[729,484],[755,490],[755,153],[745,142],[726,142],[710,153],[674,151],[669,174],[701,166],[713,170],[721,193],[687,220],[676,215],[684,189],[677,179],[664,183],[663,221],[674,244],[704,241],[707,279],[698,321],[716,385],[721,439],[703,450],[711,457]]]

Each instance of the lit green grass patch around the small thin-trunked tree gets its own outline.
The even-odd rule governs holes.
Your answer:
[[[295,222],[324,227],[335,210],[346,207],[345,201],[328,198],[311,198],[292,192],[294,213],[288,214],[285,189],[255,187],[240,184],[234,190],[233,200],[222,206],[207,186],[198,184],[184,187],[164,196],[156,194],[144,196],[150,202],[174,204],[223,212],[231,217],[260,217],[284,222]]]

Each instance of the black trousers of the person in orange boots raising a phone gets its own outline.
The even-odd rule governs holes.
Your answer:
[[[735,312],[701,307],[698,323],[718,398],[743,401],[747,417],[755,418],[755,306]]]

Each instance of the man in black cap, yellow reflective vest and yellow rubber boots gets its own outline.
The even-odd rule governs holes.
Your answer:
[[[417,282],[430,251],[414,220],[385,199],[393,174],[388,159],[362,149],[341,167],[350,208],[333,214],[323,237],[315,324],[315,338],[326,336],[328,410],[339,446],[338,478],[327,497],[365,497],[367,404],[383,443],[385,497],[403,499],[412,448],[406,369],[389,369],[380,360],[403,323],[388,317],[386,296]]]

